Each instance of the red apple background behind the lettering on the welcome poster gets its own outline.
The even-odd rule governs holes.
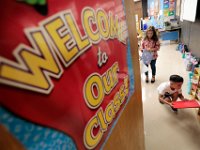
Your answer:
[[[0,55],[2,57],[16,62],[13,56],[14,49],[21,43],[31,46],[24,34],[24,29],[38,27],[40,21],[63,10],[72,11],[82,35],[85,33],[81,24],[81,11],[86,6],[92,7],[94,10],[102,8],[107,14],[111,11],[114,15],[117,14],[122,16],[121,19],[125,19],[120,0],[48,0],[47,2],[47,16],[42,16],[33,6],[25,3],[13,0],[1,2]],[[109,57],[108,62],[101,68],[97,66],[98,47]],[[91,73],[103,74],[116,61],[119,62],[120,72],[127,73],[126,45],[117,39],[101,40],[97,45],[92,45],[68,68],[62,65],[64,72],[60,79],[51,78],[54,89],[49,95],[0,84],[0,104],[22,118],[63,131],[74,139],[79,149],[83,149],[84,128],[98,110],[91,110],[85,104],[84,82]],[[104,97],[101,104],[103,109],[113,99],[121,84],[122,80],[109,95]],[[109,125],[109,129],[111,127],[112,124]],[[108,131],[98,147],[104,142],[107,134]]]

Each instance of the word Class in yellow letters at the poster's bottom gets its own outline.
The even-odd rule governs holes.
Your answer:
[[[104,132],[108,129],[108,125],[112,123],[120,106],[125,101],[125,97],[127,96],[127,93],[124,93],[125,87],[127,87],[128,90],[128,76],[124,78],[124,84],[122,84],[119,91],[115,93],[113,100],[106,106],[105,112],[103,112],[102,107],[100,107],[95,116],[87,123],[84,130],[84,144],[87,149],[94,149],[101,141]],[[94,127],[98,129],[96,135],[93,134]]]

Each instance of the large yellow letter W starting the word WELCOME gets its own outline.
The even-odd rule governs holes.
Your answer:
[[[32,32],[30,40],[37,50],[30,50],[27,46],[21,47],[16,56],[21,64],[10,63],[7,60],[3,62],[0,79],[11,86],[48,94],[53,88],[48,76],[59,77],[62,70],[41,31]]]

